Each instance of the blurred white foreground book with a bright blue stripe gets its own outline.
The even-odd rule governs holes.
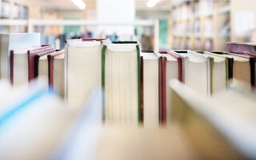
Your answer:
[[[38,83],[8,93],[8,102],[0,104],[0,157],[48,158],[73,116],[56,94]]]

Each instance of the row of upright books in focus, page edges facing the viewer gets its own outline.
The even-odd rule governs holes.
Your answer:
[[[21,35],[33,39],[36,34]],[[251,54],[255,50],[246,45],[238,50],[241,45],[229,43],[230,53],[154,52],[140,50],[137,42],[73,39],[66,41],[65,50],[43,45],[10,50],[10,55],[2,51],[1,76],[4,78],[10,70],[14,88],[45,77],[50,90],[57,90],[74,110],[94,88],[102,88],[104,121],[158,126],[170,119],[166,83],[172,78],[208,96],[226,90],[232,78],[247,83],[249,88],[255,86],[255,56]],[[8,56],[10,64],[6,65]]]

